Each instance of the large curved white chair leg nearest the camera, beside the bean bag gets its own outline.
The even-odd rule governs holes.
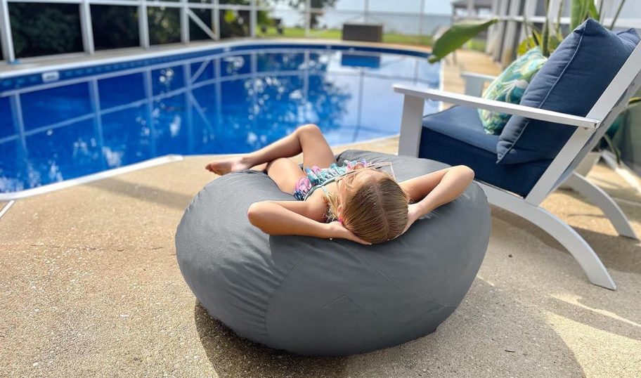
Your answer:
[[[612,280],[607,269],[603,266],[599,256],[595,254],[588,242],[585,242],[583,237],[576,233],[574,228],[571,228],[554,214],[550,214],[550,212],[541,207],[529,204],[520,197],[485,184],[481,184],[481,187],[485,190],[488,201],[491,204],[522,216],[558,240],[578,261],[585,274],[588,275],[590,282],[607,289],[616,289],[614,280]]]

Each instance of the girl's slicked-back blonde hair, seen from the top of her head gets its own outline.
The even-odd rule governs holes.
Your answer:
[[[383,172],[384,173],[384,172]],[[341,220],[354,235],[372,243],[386,242],[401,235],[408,222],[410,196],[388,174],[347,185]],[[340,200],[334,193],[325,195],[328,220],[337,220]]]

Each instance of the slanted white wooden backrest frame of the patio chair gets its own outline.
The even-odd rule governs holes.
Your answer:
[[[559,154],[552,160],[550,167],[545,170],[527,195],[526,200],[539,204],[555,190],[558,185],[574,171],[600,139],[609,126],[619,117],[621,111],[628,105],[628,100],[641,88],[641,43],[637,44],[626,63],[610,82],[599,100],[588,112],[586,117],[602,119],[596,129],[577,128],[565,143]],[[559,127],[562,127],[559,125]]]

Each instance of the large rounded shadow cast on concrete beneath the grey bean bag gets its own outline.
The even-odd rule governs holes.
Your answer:
[[[568,308],[568,310],[570,310]],[[433,334],[343,358],[297,356],[243,339],[195,301],[196,330],[220,377],[584,376],[574,352],[536,306],[484,280]],[[536,340],[536,341],[533,341]],[[540,343],[540,344],[538,344]]]

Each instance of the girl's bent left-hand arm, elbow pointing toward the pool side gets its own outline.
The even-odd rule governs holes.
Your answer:
[[[318,204],[307,201],[254,202],[247,210],[247,217],[252,225],[269,235],[304,235],[325,239],[339,237],[361,244],[371,244],[357,237],[338,222],[323,223],[311,219],[318,218],[316,207]]]

